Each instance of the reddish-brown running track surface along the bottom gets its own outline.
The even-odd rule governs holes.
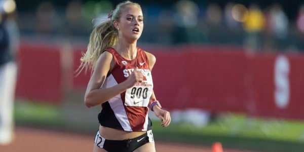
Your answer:
[[[1,152],[67,152],[92,151],[93,135],[71,134],[50,130],[16,128],[14,141],[8,145],[0,145]],[[198,146],[156,141],[158,152],[209,152],[211,146]],[[224,149],[224,152],[240,152],[240,150]]]

